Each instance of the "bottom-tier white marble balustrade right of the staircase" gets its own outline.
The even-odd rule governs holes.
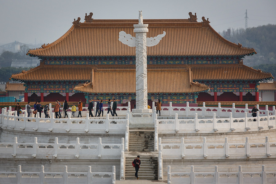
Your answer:
[[[238,172],[218,172],[218,166],[215,166],[214,172],[194,172],[194,166],[191,166],[191,172],[171,172],[171,166],[168,166],[167,184],[275,184],[276,171],[266,172],[265,166],[262,166],[260,172],[243,172],[242,166],[239,166]]]

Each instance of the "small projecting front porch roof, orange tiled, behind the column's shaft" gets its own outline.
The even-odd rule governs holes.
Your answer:
[[[97,72],[92,72],[91,76],[89,83],[79,84],[74,90],[98,94],[136,93],[135,69],[97,69]],[[209,91],[209,87],[193,82],[193,74],[190,69],[187,71],[183,69],[148,69],[148,93],[203,91]]]

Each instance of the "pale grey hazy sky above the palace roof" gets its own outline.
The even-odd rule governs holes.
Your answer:
[[[209,18],[217,31],[244,28],[247,9],[248,27],[276,24],[276,0],[0,0],[0,45],[22,43],[51,43],[61,37],[74,18],[84,22],[85,13],[94,19],[189,18],[197,13]]]

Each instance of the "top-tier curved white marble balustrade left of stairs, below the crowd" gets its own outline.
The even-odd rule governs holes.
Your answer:
[[[3,111],[4,112],[4,111]],[[125,117],[121,119],[109,119],[109,114],[105,119],[89,118],[68,118],[55,119],[53,118],[30,118],[18,117],[17,114],[10,115],[10,110],[7,113],[2,113],[2,128],[19,130],[19,131],[38,131],[38,132],[56,132],[56,133],[115,133],[124,134],[126,127]]]

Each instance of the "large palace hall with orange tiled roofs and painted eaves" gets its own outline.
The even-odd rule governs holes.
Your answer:
[[[147,47],[149,103],[259,101],[259,82],[273,76],[243,65],[242,59],[256,54],[255,49],[224,39],[208,19],[189,15],[144,19],[147,37],[166,32],[158,45]],[[135,36],[138,19],[96,20],[90,13],[80,20],[53,43],[29,50],[27,55],[38,57],[40,66],[11,79],[25,84],[25,101],[115,98],[133,105],[135,47],[121,43],[119,32]]]

